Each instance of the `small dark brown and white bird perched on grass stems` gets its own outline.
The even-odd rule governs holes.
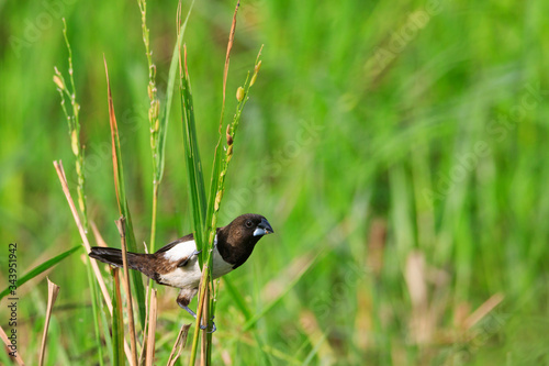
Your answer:
[[[257,242],[274,231],[260,214],[246,213],[228,225],[216,229],[213,246],[212,277],[219,278],[242,266],[251,255]],[[153,254],[127,252],[127,266],[152,278],[159,285],[179,288],[177,303],[194,319],[197,313],[189,303],[197,296],[202,271],[200,269],[194,235],[184,235],[166,244]],[[122,251],[113,247],[93,246],[91,258],[122,267]],[[205,329],[204,325],[201,325]],[[212,332],[216,330],[212,324]]]

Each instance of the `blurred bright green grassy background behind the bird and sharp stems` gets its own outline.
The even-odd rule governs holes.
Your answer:
[[[198,1],[184,37],[206,177],[234,5]],[[148,3],[163,92],[176,8]],[[80,243],[52,165],[63,159],[76,197],[52,81],[54,66],[67,77],[61,18],[81,106],[90,218],[119,246],[104,54],[136,240],[148,242],[148,76],[136,2],[0,1],[0,13],[1,268],[10,242],[19,244],[20,276]],[[244,315],[221,282],[215,365],[549,364],[548,13],[542,0],[243,1],[226,121],[265,48],[220,221],[261,213],[276,235],[228,275],[261,314],[255,328],[243,331]],[[157,247],[192,230],[178,96]],[[81,255],[48,271],[60,293],[47,365],[98,364]],[[7,276],[0,271],[2,289]],[[19,293],[20,353],[32,365],[44,276]],[[176,293],[159,288],[159,365],[190,320]],[[4,299],[4,330],[7,315]],[[0,363],[9,363],[3,353]]]

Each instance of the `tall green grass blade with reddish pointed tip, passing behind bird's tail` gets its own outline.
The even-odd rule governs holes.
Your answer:
[[[126,218],[126,245],[128,252],[137,252],[135,244],[134,229],[132,224],[132,215],[127,207],[126,193],[124,188],[124,170],[122,165],[122,152],[120,148],[119,127],[116,125],[116,117],[114,114],[114,103],[112,101],[111,84],[109,80],[109,70],[107,68],[107,59],[104,59],[107,89],[109,99],[109,120],[111,124],[112,138],[112,165],[114,170],[114,188],[116,190],[116,200],[119,203],[120,215]],[[142,275],[138,271],[132,270],[132,285],[137,301],[137,314],[142,329],[145,328],[145,287],[143,286]]]

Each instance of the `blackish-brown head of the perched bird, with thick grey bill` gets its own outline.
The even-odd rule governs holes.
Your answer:
[[[217,249],[234,268],[248,259],[257,242],[274,231],[260,214],[242,214],[217,232]]]

